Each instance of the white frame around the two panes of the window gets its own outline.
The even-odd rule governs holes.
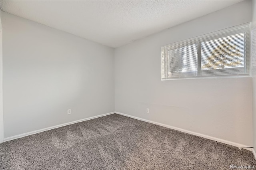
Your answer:
[[[245,33],[244,35],[244,74],[234,74],[234,75],[208,75],[201,76],[201,43],[215,40],[218,38],[224,38],[227,36],[232,36],[240,33]],[[194,77],[168,77],[168,51],[172,49],[178,49],[180,47],[185,47],[188,45],[197,44],[198,45],[198,70],[197,76]],[[250,76],[250,23],[242,24],[232,28],[227,28],[210,34],[205,34],[203,36],[198,36],[188,40],[172,43],[169,45],[164,45],[161,48],[162,55],[162,69],[161,69],[161,79],[162,80],[173,80],[173,79],[200,79],[200,78],[212,78],[212,77],[248,77]]]

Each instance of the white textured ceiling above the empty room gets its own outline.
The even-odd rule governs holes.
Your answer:
[[[110,47],[119,47],[241,0],[7,1],[1,9]]]

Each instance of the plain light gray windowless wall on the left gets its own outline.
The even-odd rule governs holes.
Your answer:
[[[113,48],[1,18],[4,138],[114,111]]]

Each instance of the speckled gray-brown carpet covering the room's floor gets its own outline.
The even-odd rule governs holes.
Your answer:
[[[0,144],[1,170],[228,170],[252,152],[113,114]]]

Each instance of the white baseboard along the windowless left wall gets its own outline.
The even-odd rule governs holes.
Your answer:
[[[25,137],[25,136],[28,136],[28,135],[31,135],[31,134],[36,134],[36,133],[44,132],[46,130],[51,130],[51,129],[54,129],[54,128],[59,128],[59,127],[71,125],[71,124],[74,124],[74,123],[88,121],[90,119],[95,119],[95,118],[98,118],[98,117],[103,117],[103,116],[111,115],[111,114],[114,114],[114,113],[115,112],[110,112],[110,113],[106,113],[106,114],[102,114],[102,115],[98,115],[98,116],[93,116],[93,117],[88,117],[88,118],[85,118],[85,119],[80,119],[80,120],[77,120],[77,121],[63,123],[61,125],[56,125],[56,126],[52,126],[52,127],[48,127],[48,128],[42,128],[42,129],[39,129],[39,130],[34,130],[32,132],[26,132],[26,133],[18,134],[18,135],[15,135],[15,136],[10,136],[8,138],[4,138],[3,142],[9,141],[9,140],[14,140],[14,139],[17,139],[17,138],[22,138],[22,137]]]

